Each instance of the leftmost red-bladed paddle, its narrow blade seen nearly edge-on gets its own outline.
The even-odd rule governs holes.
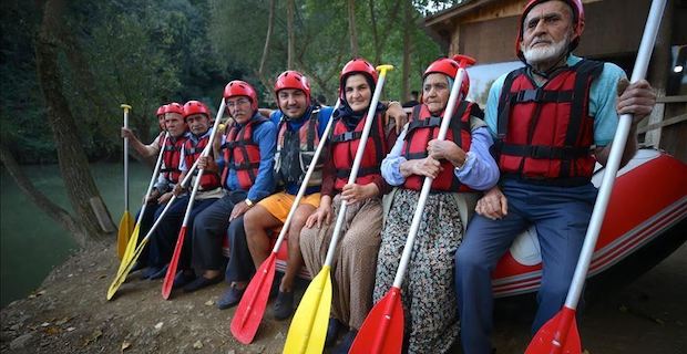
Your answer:
[[[222,115],[224,114],[224,108],[226,106],[226,101],[222,97],[222,103],[219,104],[219,108],[217,110],[217,116],[215,116],[215,124],[209,133],[209,138],[207,140],[207,146],[212,147],[215,142],[215,132],[217,132],[217,126],[219,125],[219,121],[222,119]],[[211,149],[206,148],[203,150],[201,157],[207,157],[209,155]],[[186,206],[186,214],[184,215],[184,221],[182,222],[182,229],[178,231],[178,237],[176,238],[176,246],[174,247],[174,254],[172,254],[172,260],[170,261],[170,267],[167,268],[167,273],[165,274],[165,280],[162,282],[162,298],[167,300],[170,299],[170,293],[172,293],[172,287],[174,285],[174,277],[176,275],[176,268],[178,266],[178,258],[182,254],[182,248],[184,247],[184,239],[186,238],[186,227],[188,225],[188,219],[191,218],[191,210],[193,209],[193,202],[198,192],[198,187],[201,186],[201,178],[203,177],[203,171],[205,169],[198,169],[197,178],[193,184],[193,190],[191,191],[191,197],[188,198],[188,206]],[[192,173],[189,173],[191,175]],[[201,275],[202,277],[202,275]]]

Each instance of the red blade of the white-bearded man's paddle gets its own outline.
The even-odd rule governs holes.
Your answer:
[[[575,310],[563,308],[534,335],[525,354],[580,354],[580,333]]]

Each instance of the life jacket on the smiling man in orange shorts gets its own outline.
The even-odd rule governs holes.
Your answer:
[[[278,126],[277,152],[275,153],[275,173],[278,181],[300,184],[305,178],[315,150],[319,144],[318,125],[319,110],[314,110],[298,132],[287,128],[286,116],[281,117]],[[322,165],[325,155],[320,154],[318,165],[312,171],[308,186],[322,184]]]

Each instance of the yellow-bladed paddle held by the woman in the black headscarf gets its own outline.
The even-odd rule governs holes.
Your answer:
[[[379,96],[384,86],[387,71],[392,69],[392,65],[377,66],[379,80],[377,87],[375,87],[372,101],[370,102],[365,127],[362,128],[362,136],[360,137],[358,149],[356,150],[353,166],[348,177],[349,185],[355,184],[358,177],[358,169],[360,168],[360,162],[365,154],[365,146],[370,135],[372,122],[375,121],[377,104],[379,103]],[[331,263],[334,262],[334,252],[341,233],[341,227],[344,226],[347,207],[348,204],[342,200],[337,216],[337,222],[334,227],[334,233],[331,235],[331,241],[329,242],[329,249],[327,250],[325,264],[317,277],[310,282],[310,285],[308,285],[296,310],[296,314],[294,314],[294,320],[291,321],[286,336],[284,353],[321,353],[325,348],[327,321],[329,319],[329,309],[331,308],[331,279],[329,273],[331,271]]]

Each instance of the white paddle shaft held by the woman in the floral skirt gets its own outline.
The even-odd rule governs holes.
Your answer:
[[[460,86],[464,77],[465,69],[463,66],[460,66],[458,69],[458,75],[455,77],[455,81],[453,82],[453,86],[451,87],[451,95],[449,96],[449,103],[447,104],[447,110],[443,114],[441,126],[439,127],[439,135],[437,136],[438,140],[443,140],[447,137],[447,133],[449,132],[449,126],[451,124],[451,118],[453,117],[453,112],[455,111],[455,107],[458,105]],[[422,183],[422,189],[420,190],[420,198],[418,199],[416,214],[412,216],[412,222],[410,225],[410,230],[408,231],[408,238],[406,239],[406,246],[403,247],[401,261],[399,263],[398,270],[396,271],[396,278],[393,279],[393,288],[401,289],[403,277],[406,275],[406,269],[408,268],[408,263],[410,262],[412,247],[416,242],[416,236],[418,235],[420,221],[422,220],[424,206],[427,205],[427,197],[429,196],[433,180],[434,178],[432,177],[424,177],[424,181]]]

